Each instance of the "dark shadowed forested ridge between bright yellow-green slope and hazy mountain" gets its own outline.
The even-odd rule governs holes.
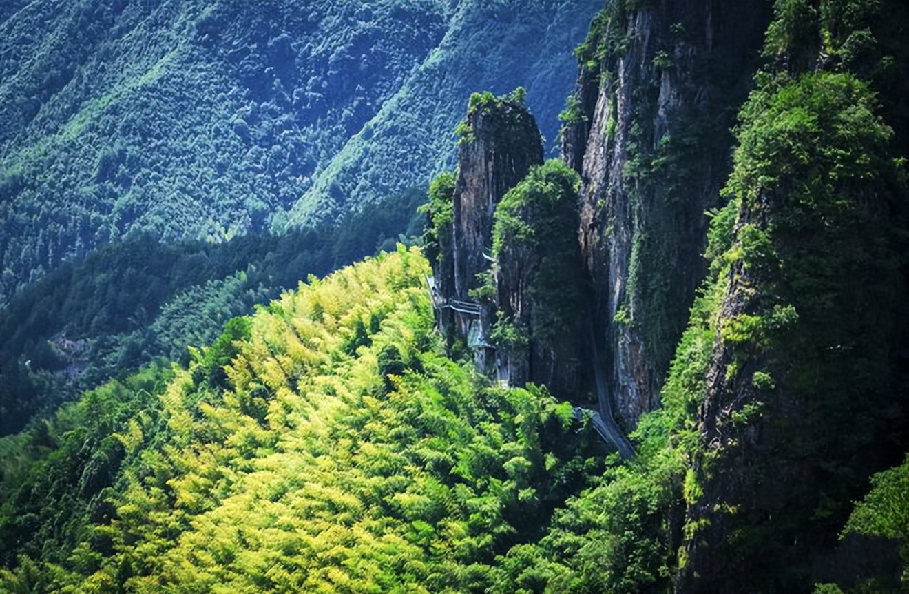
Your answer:
[[[65,263],[0,308],[0,435],[36,413],[155,357],[186,360],[186,346],[218,336],[231,317],[295,287],[308,274],[415,241],[422,192],[365,206],[339,226],[282,236],[162,244],[150,234]],[[401,235],[389,237],[392,229]]]

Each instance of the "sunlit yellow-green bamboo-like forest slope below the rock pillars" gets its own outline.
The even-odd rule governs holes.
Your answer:
[[[99,388],[5,438],[0,529],[21,556],[0,589],[498,588],[499,556],[540,537],[599,448],[544,389],[483,388],[445,357],[427,272],[401,248],[311,278],[156,390]],[[132,415],[98,410],[113,392]],[[83,415],[105,420],[65,432]],[[67,501],[36,539],[53,519],[23,512]]]

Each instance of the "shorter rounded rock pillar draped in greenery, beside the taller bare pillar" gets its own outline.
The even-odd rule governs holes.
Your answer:
[[[577,244],[577,174],[561,161],[534,167],[495,212],[492,281],[497,358],[515,386],[543,384],[586,404],[589,295]]]

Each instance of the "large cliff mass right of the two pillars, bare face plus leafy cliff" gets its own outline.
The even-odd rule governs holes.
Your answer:
[[[614,3],[581,50],[564,156],[611,404],[641,456],[569,506],[568,535],[614,540],[554,533],[543,557],[609,559],[586,582],[604,589],[899,588],[898,549],[843,527],[907,450],[909,14],[768,8]],[[578,519],[598,501],[611,518]]]

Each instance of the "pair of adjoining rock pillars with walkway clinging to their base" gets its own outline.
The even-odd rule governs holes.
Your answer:
[[[577,242],[579,178],[543,163],[523,90],[474,94],[457,176],[430,186],[426,254],[439,326],[476,367],[510,386],[589,392],[589,292]]]

